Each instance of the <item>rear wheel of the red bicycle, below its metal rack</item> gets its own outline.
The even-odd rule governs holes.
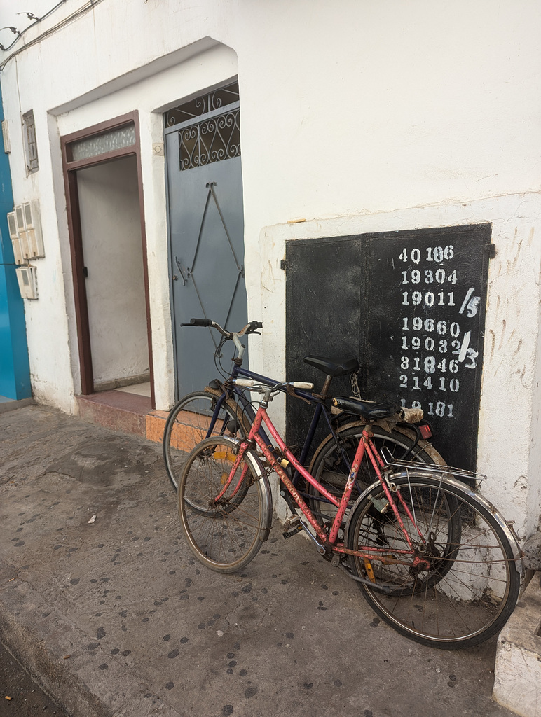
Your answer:
[[[395,504],[410,538],[424,551],[431,566],[413,569],[411,561],[401,560],[394,551],[407,549],[398,521],[377,524],[374,501],[385,498],[377,483],[354,509],[347,527],[347,546],[351,550],[388,548],[387,564],[377,559],[350,556],[352,574],[385,584],[390,594],[377,592],[358,583],[370,607],[401,635],[423,645],[441,648],[471,647],[502,630],[519,595],[520,576],[504,520],[493,506],[466,485],[439,475],[391,478],[398,493],[414,516],[408,518],[400,500]],[[460,538],[454,544],[453,516],[449,505],[461,516]],[[506,532],[507,530],[507,532]],[[422,538],[419,538],[419,533]],[[456,531],[454,531],[456,532]],[[424,541],[424,548],[423,548]],[[443,544],[451,541],[448,556]],[[420,554],[420,553],[419,553]],[[447,569],[441,570],[448,561]]]

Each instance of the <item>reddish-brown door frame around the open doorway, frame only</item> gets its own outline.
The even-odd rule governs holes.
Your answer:
[[[135,127],[135,144],[105,152],[98,156],[73,161],[72,143],[97,136],[111,130],[119,129],[126,125],[133,124]],[[90,347],[90,324],[88,321],[88,301],[85,287],[84,257],[83,257],[83,232],[80,221],[79,192],[77,189],[77,170],[105,164],[129,155],[136,156],[137,162],[137,183],[139,191],[139,211],[141,217],[141,242],[143,244],[143,273],[146,305],[146,332],[149,342],[149,371],[151,385],[152,407],[156,407],[154,399],[154,366],[152,361],[152,331],[150,320],[150,298],[149,298],[149,267],[146,260],[146,231],[144,217],[144,196],[143,181],[141,174],[141,151],[139,143],[139,115],[132,112],[121,115],[112,120],[93,125],[78,132],[65,135],[60,138],[62,148],[62,169],[64,173],[64,184],[67,204],[67,225],[70,234],[70,250],[73,274],[73,293],[75,299],[75,320],[77,322],[77,344],[79,347],[79,363],[81,374],[81,393],[83,395],[94,392],[94,376],[92,369],[92,353]]]

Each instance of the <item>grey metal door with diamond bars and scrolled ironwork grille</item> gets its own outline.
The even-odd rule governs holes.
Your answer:
[[[212,109],[215,95],[198,98],[197,109],[210,111],[197,117],[176,121],[191,114],[195,101],[166,115],[167,124],[174,121],[165,132],[177,397],[217,376],[220,338],[212,329],[181,323],[210,318],[235,331],[248,321],[240,109],[238,102]],[[226,366],[230,353],[228,346]]]

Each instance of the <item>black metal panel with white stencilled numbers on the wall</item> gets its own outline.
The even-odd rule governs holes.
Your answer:
[[[321,385],[306,353],[357,356],[363,397],[422,407],[443,457],[475,470],[490,236],[481,224],[288,242],[288,378]],[[308,422],[288,401],[290,442]]]

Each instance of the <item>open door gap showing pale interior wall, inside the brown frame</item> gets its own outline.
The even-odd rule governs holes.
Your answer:
[[[94,391],[149,381],[137,164],[77,171]]]

